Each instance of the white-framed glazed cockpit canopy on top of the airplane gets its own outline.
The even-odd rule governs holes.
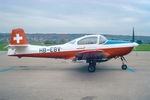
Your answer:
[[[103,44],[107,39],[102,35],[86,35],[68,42],[68,44],[88,45],[88,44]]]

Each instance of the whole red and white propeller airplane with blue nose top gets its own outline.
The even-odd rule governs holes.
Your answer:
[[[8,56],[17,56],[19,58],[41,57],[71,59],[73,61],[86,60],[86,63],[89,63],[88,71],[95,72],[97,62],[105,62],[118,57],[122,61],[122,70],[126,70],[127,65],[125,64],[124,55],[130,53],[136,46],[138,44],[134,40],[133,42],[112,41],[107,40],[102,35],[85,35],[62,45],[30,45],[24,30],[18,28],[12,30],[10,44],[7,48]]]

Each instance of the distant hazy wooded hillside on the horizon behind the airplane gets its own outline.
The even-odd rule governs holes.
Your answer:
[[[0,33],[0,44],[9,43],[10,35],[10,33]],[[87,34],[26,34],[31,44],[63,44],[84,35]],[[132,39],[128,35],[103,35],[109,40],[131,41]],[[150,44],[150,36],[135,36],[135,40],[141,40],[144,44]]]

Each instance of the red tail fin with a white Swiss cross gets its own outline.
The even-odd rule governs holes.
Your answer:
[[[28,45],[24,30],[21,28],[13,29],[10,38],[10,45]]]

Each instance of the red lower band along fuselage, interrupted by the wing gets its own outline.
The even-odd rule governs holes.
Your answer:
[[[132,51],[133,47],[122,47],[122,48],[107,48],[99,49],[105,53],[109,53],[109,57],[123,56]],[[33,54],[16,54],[9,56],[18,56],[18,57],[41,57],[41,58],[64,58],[70,59],[75,56],[76,53],[83,52],[86,50],[76,50],[76,51],[62,51],[62,52],[48,52],[48,53],[33,53]]]

